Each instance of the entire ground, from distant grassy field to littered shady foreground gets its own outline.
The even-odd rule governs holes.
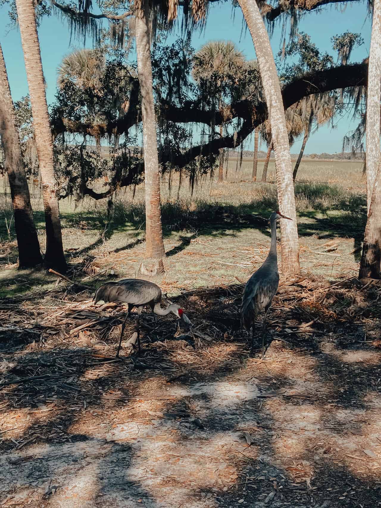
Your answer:
[[[239,308],[267,256],[276,189],[252,183],[251,167],[231,160],[226,182],[208,177],[193,195],[186,179],[173,175],[169,189],[165,178],[166,273],[154,282],[193,336],[172,314],[143,311],[142,355],[126,343],[131,321],[120,361],[123,308],[91,298],[136,275],[144,186],[119,193],[109,223],[105,203],[60,203],[74,284],[17,270],[0,196],[1,506],[381,505],[380,288],[356,278],[361,162],[301,166],[302,274],[281,276],[264,361],[249,354]],[[38,193],[33,201],[43,246]]]

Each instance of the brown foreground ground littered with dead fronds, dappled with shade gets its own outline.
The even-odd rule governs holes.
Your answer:
[[[186,292],[194,337],[143,312],[118,361],[123,309],[65,285],[0,304],[1,506],[381,505],[379,286],[281,285],[264,361],[243,285]]]

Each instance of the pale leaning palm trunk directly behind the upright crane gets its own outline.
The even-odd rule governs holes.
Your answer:
[[[238,2],[241,6],[256,50],[262,85],[269,111],[275,152],[279,210],[283,215],[287,215],[293,219],[280,221],[282,274],[298,273],[300,272],[300,264],[295,195],[292,179],[290,144],[279,79],[269,36],[256,0],[238,0]]]

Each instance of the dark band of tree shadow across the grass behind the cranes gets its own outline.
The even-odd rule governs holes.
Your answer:
[[[354,238],[354,250],[359,249],[366,223],[366,200],[364,196],[353,195],[350,199],[340,197],[336,188],[331,189],[327,185],[310,188],[308,185],[299,185],[296,198],[298,211],[298,232],[300,237],[319,235],[320,238],[349,236]],[[298,190],[299,189],[299,190]],[[299,200],[299,201],[298,201]],[[304,204],[303,204],[304,203]],[[313,205],[315,208],[301,208]],[[306,205],[307,204],[307,205]],[[264,195],[251,203],[224,204],[206,203],[196,201],[193,209],[189,210],[178,203],[164,203],[162,209],[163,234],[165,238],[179,233],[189,232],[189,235],[197,234],[212,237],[232,236],[245,230],[257,230],[270,236],[268,218],[276,209],[276,194]],[[5,212],[2,212],[3,215]],[[43,212],[37,212],[38,224],[43,227]],[[0,213],[0,224],[2,224]],[[4,221],[3,221],[4,222]],[[84,254],[94,248],[100,247],[105,241],[110,240],[115,234],[126,233],[143,236],[142,228],[145,224],[145,211],[141,203],[129,203],[128,207],[120,205],[116,207],[113,220],[107,223],[102,211],[76,211],[62,213],[62,224],[68,228],[80,231],[99,233],[99,238],[80,250],[72,253],[70,260],[83,257]],[[14,237],[14,229],[11,234]],[[118,247],[115,252],[133,248],[143,238],[136,238],[124,247]],[[187,234],[181,234],[180,247],[170,250],[170,255],[187,246]],[[176,250],[177,249],[177,250]],[[355,252],[355,259],[359,260],[360,251]],[[15,243],[10,247],[10,260],[17,260],[17,246]]]

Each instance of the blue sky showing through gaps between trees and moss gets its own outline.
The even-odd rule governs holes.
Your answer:
[[[234,16],[232,16],[232,12]],[[214,4],[209,9],[208,19],[202,33],[195,33],[192,45],[198,49],[205,42],[216,39],[227,39],[233,41],[247,59],[255,58],[255,51],[252,45],[250,34],[247,30],[242,31],[242,13],[239,8],[232,11],[230,3]],[[300,21],[299,29],[311,36],[319,49],[333,54],[331,37],[349,30],[361,33],[365,44],[353,51],[351,61],[361,61],[368,56],[370,45],[371,21],[367,17],[366,3],[354,2],[346,5],[341,11],[334,6],[325,8],[321,13],[308,13]],[[169,41],[176,38],[171,36]],[[44,75],[47,82],[48,103],[53,102],[55,94],[55,83],[57,67],[62,57],[76,48],[83,47],[82,43],[72,40],[70,44],[70,30],[67,24],[57,16],[44,18],[39,28],[42,63]],[[17,28],[9,26],[7,6],[0,8],[0,43],[2,44],[4,57],[12,91],[13,100],[27,94],[27,83],[24,69],[24,60],[21,49],[20,34]],[[274,53],[277,53],[281,45],[281,26],[275,27],[271,38],[271,45]],[[87,44],[87,47],[89,45]],[[314,133],[306,146],[306,153],[338,152],[341,151],[343,136],[354,129],[356,122],[351,117],[344,116],[342,119],[335,119],[336,128],[323,126]],[[297,152],[301,140],[292,147],[292,152]],[[251,146],[248,141],[247,147]]]

